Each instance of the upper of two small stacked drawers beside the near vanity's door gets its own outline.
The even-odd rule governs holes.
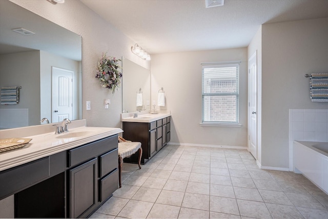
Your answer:
[[[99,177],[103,177],[115,168],[118,168],[118,149],[114,149],[100,156]]]

